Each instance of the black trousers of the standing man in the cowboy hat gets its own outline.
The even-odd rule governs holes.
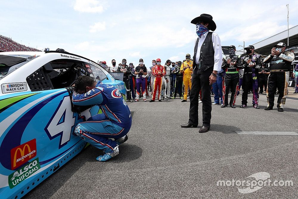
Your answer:
[[[198,102],[199,92],[202,90],[202,115],[203,126],[210,127],[211,121],[211,89],[209,85],[209,77],[212,73],[212,67],[207,71],[201,71],[195,68],[193,71],[192,86],[190,90],[190,107],[188,122],[193,125],[198,125]]]

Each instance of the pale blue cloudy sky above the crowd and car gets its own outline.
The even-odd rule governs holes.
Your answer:
[[[298,1],[1,1],[0,35],[93,61],[122,58],[137,65],[183,60],[193,55],[195,25],[201,13],[213,16],[223,46],[254,44],[298,24]]]

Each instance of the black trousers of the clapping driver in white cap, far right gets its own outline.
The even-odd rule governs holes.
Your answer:
[[[277,107],[283,108],[288,95],[288,81],[290,72],[270,72],[267,84],[267,106],[274,106],[274,95],[278,90]]]

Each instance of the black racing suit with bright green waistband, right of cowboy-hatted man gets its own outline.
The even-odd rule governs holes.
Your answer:
[[[227,60],[231,59],[230,64],[227,63]],[[229,96],[229,89],[231,88],[231,98],[230,98],[230,105],[235,105],[236,97],[239,85],[239,67],[238,67],[239,57],[237,55],[234,56],[227,56],[223,60],[222,68],[226,71],[226,75],[224,77],[224,87],[223,87],[223,103],[228,105],[228,96]],[[232,66],[231,63],[236,62],[236,65]]]

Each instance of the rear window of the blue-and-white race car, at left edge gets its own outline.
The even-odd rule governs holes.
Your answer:
[[[0,78],[18,69],[28,61],[36,58],[36,55],[0,55]]]

